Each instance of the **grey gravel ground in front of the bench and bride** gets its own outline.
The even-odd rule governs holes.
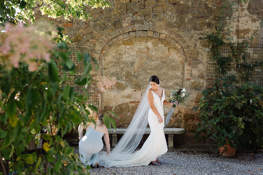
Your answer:
[[[75,153],[78,149],[75,147]],[[100,167],[88,170],[91,175],[263,175],[263,153],[237,152],[224,157],[219,153],[168,151],[164,164],[140,167]]]

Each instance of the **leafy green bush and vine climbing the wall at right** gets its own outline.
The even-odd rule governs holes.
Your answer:
[[[217,64],[218,78],[212,88],[202,91],[199,106],[192,108],[194,111],[199,109],[200,112],[200,123],[197,124],[194,136],[195,139],[200,139],[201,133],[205,133],[206,138],[217,143],[217,148],[228,143],[232,148],[255,150],[263,148],[263,87],[248,81],[252,71],[261,69],[263,62],[249,63],[247,51],[263,22],[256,28],[248,43],[233,44],[231,22],[235,6],[235,1],[224,1],[217,32],[207,36],[211,44],[212,61]],[[224,21],[228,23],[225,24]],[[228,28],[226,37],[223,35],[224,26]],[[224,46],[230,46],[229,56],[220,54],[220,49]],[[229,90],[229,86],[237,78],[235,75],[227,75],[229,66],[234,61],[246,84]]]

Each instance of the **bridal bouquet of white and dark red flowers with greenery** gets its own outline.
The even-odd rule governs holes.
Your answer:
[[[181,104],[181,106],[187,106],[186,101],[188,101],[188,96],[189,94],[187,93],[187,90],[185,88],[176,88],[176,90],[171,90],[171,95],[168,95],[168,101],[171,103],[178,101],[178,103]],[[173,108],[175,107],[176,105],[174,104]]]

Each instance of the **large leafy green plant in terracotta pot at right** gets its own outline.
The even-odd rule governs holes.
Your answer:
[[[263,147],[262,86],[243,84],[231,91],[224,91],[216,82],[212,88],[203,90],[202,94],[199,102],[200,123],[194,133],[195,139],[205,133],[205,137],[217,143],[216,147],[221,148],[223,155],[230,148],[256,150]]]

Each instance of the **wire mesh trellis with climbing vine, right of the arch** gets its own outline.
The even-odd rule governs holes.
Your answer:
[[[237,46],[237,44],[232,46]],[[224,75],[218,72],[218,64],[216,61],[213,61],[214,53],[209,52],[207,60],[207,88],[211,88],[219,76],[224,79],[235,78],[235,81],[230,83],[229,89],[239,87],[243,83],[255,83],[263,86],[263,44],[250,44],[249,47],[240,45],[237,48],[238,50],[236,51],[239,54],[233,54],[230,44],[219,49],[221,57],[232,57],[232,62],[229,63]],[[245,58],[245,61],[243,58]]]

